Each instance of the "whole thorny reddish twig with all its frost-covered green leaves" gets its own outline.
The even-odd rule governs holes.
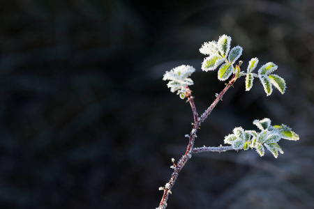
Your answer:
[[[177,91],[177,94],[181,99],[186,98],[187,102],[190,103],[194,123],[192,131],[190,134],[186,135],[189,138],[186,153],[182,155],[177,164],[175,164],[175,161],[172,158],[171,168],[174,169],[174,171],[170,180],[164,187],[159,187],[159,189],[164,192],[158,209],[164,209],[167,207],[167,199],[169,198],[169,195],[172,194],[171,189],[179,176],[179,172],[184,167],[186,162],[188,162],[190,157],[192,157],[195,153],[225,152],[227,150],[248,150],[248,148],[255,148],[257,153],[260,156],[263,156],[264,147],[266,147],[274,155],[274,157],[278,157],[278,152],[283,154],[283,150],[281,149],[281,146],[278,145],[278,141],[281,139],[293,141],[299,140],[298,134],[293,132],[290,127],[287,127],[287,125],[282,124],[272,126],[270,119],[264,118],[262,120],[253,121],[253,124],[260,129],[260,132],[256,132],[255,130],[244,130],[242,127],[235,127],[233,133],[227,135],[224,139],[225,144],[230,144],[231,146],[204,146],[200,148],[193,148],[195,138],[197,137],[197,130],[199,130],[201,123],[209,116],[209,114],[211,114],[211,111],[213,111],[218,102],[223,100],[223,95],[225,95],[227,90],[233,86],[234,82],[236,82],[239,77],[246,76],[246,91],[250,91],[253,86],[253,80],[255,78],[259,78],[267,96],[271,95],[273,86],[282,94],[285,93],[285,80],[278,75],[272,74],[278,68],[276,64],[272,62],[266,63],[260,67],[257,73],[255,73],[253,71],[257,67],[258,59],[253,58],[249,61],[246,72],[243,72],[240,70],[242,61],[239,61],[239,64],[234,66],[241,56],[243,49],[240,46],[231,48],[230,42],[231,37],[223,35],[219,37],[217,42],[204,42],[204,45],[200,48],[200,52],[202,54],[208,55],[208,57],[202,62],[203,71],[207,72],[209,70],[215,70],[220,66],[218,70],[218,79],[220,81],[225,81],[232,75],[232,78],[226,84],[225,88],[223,88],[223,91],[216,94],[214,102],[211,103],[201,116],[198,116],[197,114],[192,91],[190,91],[190,88],[188,87],[194,84],[193,80],[189,77],[193,72],[195,72],[195,68],[190,65],[180,65],[177,68],[173,68],[169,72],[165,72],[163,79],[170,81],[167,83],[170,91]]]

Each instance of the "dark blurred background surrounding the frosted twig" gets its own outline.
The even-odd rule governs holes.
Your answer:
[[[219,146],[236,126],[285,123],[275,159],[193,155],[168,208],[314,208],[314,1],[0,1],[0,208],[156,208],[193,116],[166,70],[193,65],[201,114],[220,92],[203,42],[232,36],[243,70],[273,61],[285,95],[234,84],[198,132]]]

